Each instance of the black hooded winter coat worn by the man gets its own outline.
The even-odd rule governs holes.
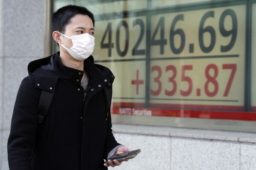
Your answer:
[[[18,90],[8,139],[10,170],[107,170],[103,158],[117,145],[111,115],[106,121],[103,87],[114,76],[104,66],[84,61],[89,76],[85,97],[83,72],[64,66],[59,53],[29,63],[29,76]],[[49,113],[32,158],[41,89],[54,91]],[[111,99],[110,99],[111,100]]]

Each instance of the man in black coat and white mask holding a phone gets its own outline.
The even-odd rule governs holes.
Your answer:
[[[111,115],[106,116],[103,88],[112,89],[114,76],[91,56],[94,16],[84,7],[64,6],[53,14],[52,28],[60,52],[29,63],[12,116],[9,168],[105,170],[120,165],[103,160],[129,149],[117,143]],[[38,132],[42,90],[54,97]]]

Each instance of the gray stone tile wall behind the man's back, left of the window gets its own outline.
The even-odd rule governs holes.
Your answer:
[[[27,64],[44,54],[46,0],[0,0],[0,170],[9,170],[7,140]]]

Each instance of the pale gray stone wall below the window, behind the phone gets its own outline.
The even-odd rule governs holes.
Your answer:
[[[256,170],[256,134],[113,124],[116,140],[141,149],[109,170]]]

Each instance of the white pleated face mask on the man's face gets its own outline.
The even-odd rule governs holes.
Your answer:
[[[60,32],[59,32],[60,33]],[[60,33],[63,35],[62,33]],[[67,35],[63,35],[64,37],[72,39],[73,46],[68,49],[67,47],[63,46],[66,50],[68,50],[69,54],[79,61],[83,61],[88,58],[94,49],[94,36],[85,33],[80,35],[74,35],[68,37]]]

